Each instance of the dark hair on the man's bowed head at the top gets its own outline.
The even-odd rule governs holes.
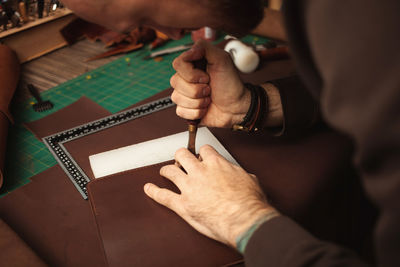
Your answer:
[[[209,0],[222,19],[222,29],[244,35],[254,29],[264,16],[263,0]]]

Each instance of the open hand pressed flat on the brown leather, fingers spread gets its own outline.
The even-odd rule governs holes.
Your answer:
[[[200,233],[236,247],[236,238],[274,209],[254,175],[228,162],[211,146],[201,147],[200,156],[202,161],[182,148],[175,159],[187,173],[176,165],[161,168],[160,174],[181,194],[150,183],[144,186],[145,193]]]

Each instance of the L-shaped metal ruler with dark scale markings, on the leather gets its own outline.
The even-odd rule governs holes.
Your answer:
[[[171,101],[170,97],[162,98],[139,107],[121,111],[114,115],[44,137],[43,142],[53,154],[58,164],[60,164],[61,168],[71,179],[82,197],[87,199],[88,195],[86,185],[90,179],[69,154],[64,144],[174,105],[175,104]]]

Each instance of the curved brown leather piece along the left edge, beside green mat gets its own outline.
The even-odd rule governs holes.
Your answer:
[[[7,46],[0,44],[0,187],[3,184],[8,125],[9,121],[12,121],[9,105],[17,88],[19,75],[17,55]]]

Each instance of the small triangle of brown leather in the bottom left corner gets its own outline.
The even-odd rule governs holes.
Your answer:
[[[47,266],[26,243],[0,219],[0,262],[2,266]]]

